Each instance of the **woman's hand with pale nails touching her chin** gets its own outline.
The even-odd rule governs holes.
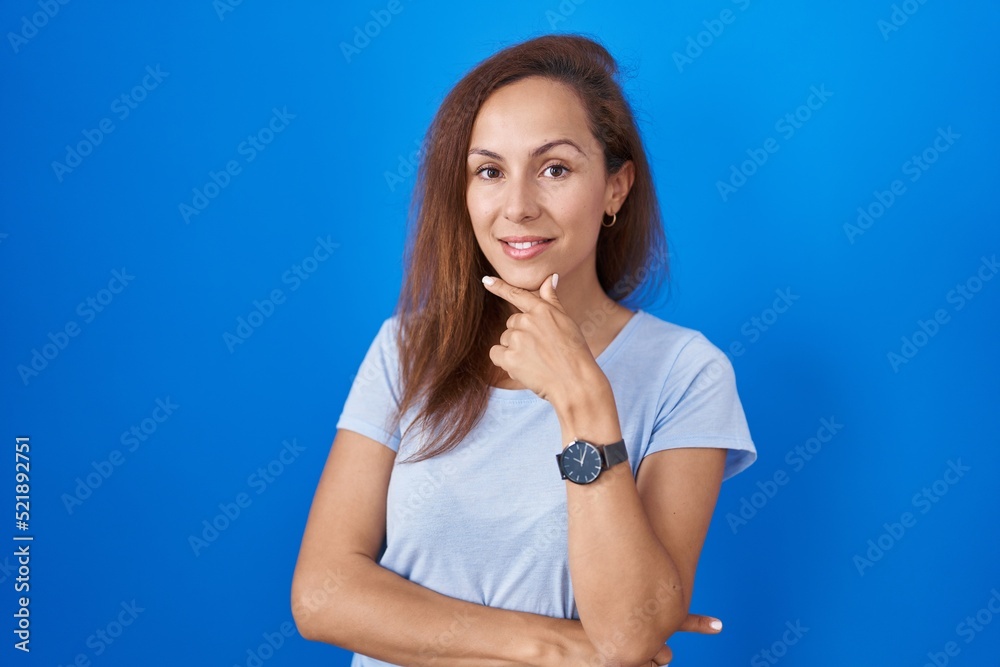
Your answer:
[[[508,318],[500,344],[490,349],[490,359],[553,404],[569,390],[592,382],[595,372],[603,377],[580,327],[559,303],[557,282],[553,274],[536,293],[493,276],[483,278],[487,290],[520,311]]]

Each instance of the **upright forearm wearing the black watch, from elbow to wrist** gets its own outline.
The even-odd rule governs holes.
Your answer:
[[[586,391],[555,405],[562,444],[618,441],[610,385],[594,378],[580,386]],[[648,664],[680,627],[689,600],[646,517],[631,468],[622,463],[593,483],[565,484],[570,576],[584,630],[612,663]]]

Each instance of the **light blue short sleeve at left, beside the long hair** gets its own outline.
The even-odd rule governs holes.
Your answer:
[[[372,341],[358,368],[338,429],[348,429],[399,450],[399,352],[396,347],[397,317],[387,319]]]

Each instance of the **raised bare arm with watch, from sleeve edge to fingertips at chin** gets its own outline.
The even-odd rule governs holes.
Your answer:
[[[490,359],[552,404],[563,445],[577,438],[616,442],[622,433],[611,383],[553,279],[535,293],[484,278],[487,290],[521,311],[507,320]],[[565,483],[576,605],[587,636],[610,664],[649,665],[688,615],[726,454],[707,448],[670,454],[647,457],[641,479],[619,464],[591,484]],[[681,483],[651,488],[646,478]]]

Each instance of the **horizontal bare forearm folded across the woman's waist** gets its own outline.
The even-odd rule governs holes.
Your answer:
[[[292,595],[306,639],[399,665],[570,664],[572,643],[586,638],[578,621],[441,595],[360,554],[325,572],[297,572]]]

